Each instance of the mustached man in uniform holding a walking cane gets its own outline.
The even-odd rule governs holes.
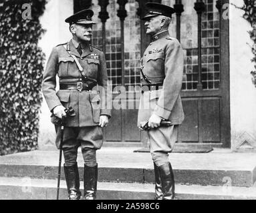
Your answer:
[[[75,116],[66,118],[63,130],[64,172],[68,198],[80,199],[80,178],[76,162],[78,147],[84,158],[84,198],[96,199],[98,164],[96,150],[102,146],[102,128],[111,116],[107,94],[108,75],[104,53],[90,45],[94,12],[80,11],[66,19],[73,35],[71,41],[54,47],[43,75],[43,95],[49,110],[58,118],[72,107]],[[55,92],[56,75],[59,91]],[[100,91],[100,92],[99,92]],[[106,95],[107,94],[107,95]],[[59,130],[56,144],[59,147]]]

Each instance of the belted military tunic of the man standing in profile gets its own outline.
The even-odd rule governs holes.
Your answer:
[[[148,120],[154,112],[172,124],[181,124],[184,112],[180,99],[183,75],[183,51],[177,39],[163,31],[153,37],[142,60],[142,94],[138,112],[140,122]],[[147,81],[145,80],[145,77]],[[148,83],[150,81],[150,83]],[[162,84],[161,89],[148,91],[143,85]],[[154,88],[154,87],[153,87]]]

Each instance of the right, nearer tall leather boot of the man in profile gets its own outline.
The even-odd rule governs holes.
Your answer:
[[[162,182],[162,192],[164,194],[162,200],[173,200],[175,198],[175,182],[170,162],[158,166],[158,171]]]

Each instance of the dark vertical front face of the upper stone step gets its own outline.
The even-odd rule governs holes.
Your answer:
[[[84,166],[79,165],[80,180],[83,180]],[[57,166],[0,164],[0,177],[26,177],[37,179],[56,179]],[[198,184],[223,186],[251,187],[255,182],[255,170],[203,170],[174,169],[174,177],[178,184]],[[61,180],[65,180],[63,166]],[[138,182],[154,183],[152,168],[100,167],[98,168],[100,182]]]

